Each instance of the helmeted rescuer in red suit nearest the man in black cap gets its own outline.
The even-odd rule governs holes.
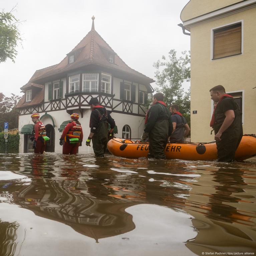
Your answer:
[[[79,114],[73,113],[70,115],[70,122],[65,126],[62,135],[59,139],[59,145],[64,145],[62,148],[63,155],[77,154],[78,147],[82,146],[83,130],[81,123],[78,121]]]

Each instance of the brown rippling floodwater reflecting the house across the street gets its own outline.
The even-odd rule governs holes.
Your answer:
[[[255,197],[255,158],[1,154],[0,255],[256,255]]]

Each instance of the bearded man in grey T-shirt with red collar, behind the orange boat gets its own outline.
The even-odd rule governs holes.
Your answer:
[[[189,134],[190,128],[186,118],[179,112],[178,105],[171,105],[173,133],[170,136],[170,143],[185,141],[185,137]]]

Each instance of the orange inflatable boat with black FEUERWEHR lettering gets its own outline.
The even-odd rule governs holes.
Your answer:
[[[107,143],[107,149],[117,157],[147,157],[149,143],[114,138]],[[182,160],[215,160],[217,148],[215,142],[210,143],[168,143],[165,148],[167,159]],[[244,135],[236,151],[236,160],[245,160],[256,156],[255,135]]]

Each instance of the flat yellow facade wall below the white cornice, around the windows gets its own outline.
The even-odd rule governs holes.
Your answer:
[[[244,90],[244,134],[256,133],[256,8],[191,28],[191,141],[209,142],[209,89],[221,84],[226,92]],[[243,20],[243,54],[211,61],[211,29]],[[192,114],[197,110],[197,114]]]

